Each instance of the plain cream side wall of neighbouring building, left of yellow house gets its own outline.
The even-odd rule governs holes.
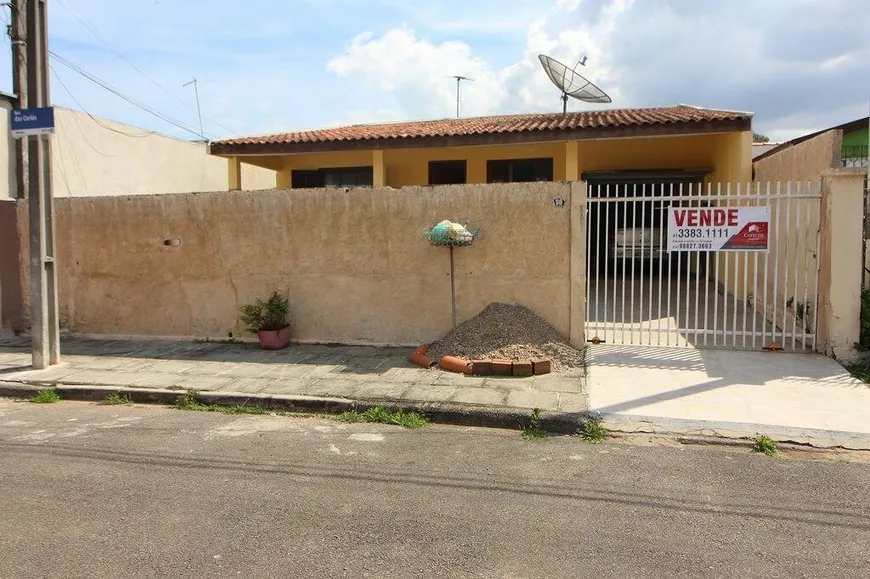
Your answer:
[[[175,139],[63,107],[55,107],[55,125],[56,197],[226,188],[227,160],[209,155],[205,143]],[[242,182],[247,189],[271,189],[275,187],[275,172],[246,165]]]

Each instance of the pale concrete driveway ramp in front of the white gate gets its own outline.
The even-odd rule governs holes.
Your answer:
[[[594,346],[587,387],[623,431],[870,449],[870,386],[817,354]]]

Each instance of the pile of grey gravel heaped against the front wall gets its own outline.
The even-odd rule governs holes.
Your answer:
[[[583,351],[571,345],[532,310],[514,304],[493,303],[429,345],[432,360],[450,355],[467,360],[508,358],[528,360],[549,358],[553,372],[564,372],[583,365]]]

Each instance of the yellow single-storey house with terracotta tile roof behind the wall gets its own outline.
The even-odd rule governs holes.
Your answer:
[[[353,125],[217,141],[279,188],[666,179],[747,182],[752,114],[678,105]]]

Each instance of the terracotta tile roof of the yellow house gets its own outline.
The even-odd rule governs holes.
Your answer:
[[[688,105],[646,109],[612,109],[576,113],[539,113],[491,117],[411,121],[373,125],[351,125],[312,131],[298,131],[257,137],[227,139],[212,143],[212,152],[230,153],[248,146],[280,148],[281,145],[330,143],[340,145],[366,141],[497,136],[518,133],[595,132],[600,129],[667,127],[685,124],[710,124],[748,121],[752,114],[740,111],[705,109]],[[296,149],[297,147],[292,147]]]

